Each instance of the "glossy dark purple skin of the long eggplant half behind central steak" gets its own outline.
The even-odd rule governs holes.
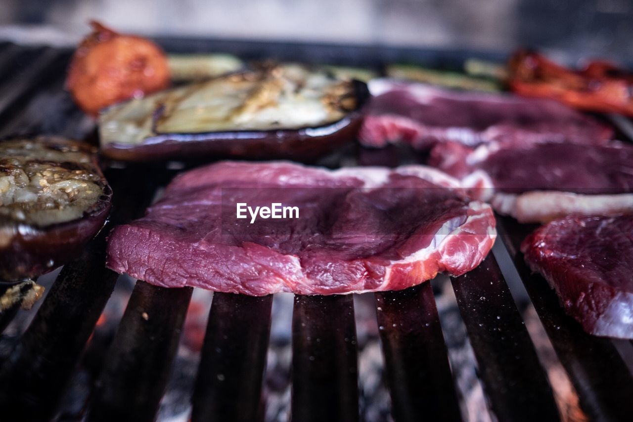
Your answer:
[[[352,80],[351,83],[356,101],[354,109],[340,120],[320,127],[158,133],[140,144],[102,142],[101,153],[111,159],[135,162],[199,157],[315,161],[356,139],[370,94],[364,82]]]

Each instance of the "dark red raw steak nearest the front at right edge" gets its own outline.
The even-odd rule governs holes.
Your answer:
[[[633,338],[633,216],[555,220],[521,250],[586,332]]]

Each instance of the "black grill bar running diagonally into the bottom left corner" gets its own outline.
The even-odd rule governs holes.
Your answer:
[[[0,406],[10,420],[53,416],[118,276],[105,267],[106,233],[81,258],[64,266],[20,344],[4,363]]]

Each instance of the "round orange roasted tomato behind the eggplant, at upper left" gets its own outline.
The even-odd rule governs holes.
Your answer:
[[[66,88],[86,113],[96,116],[106,106],[168,87],[169,65],[160,47],[98,22],[91,25],[94,31],[75,51],[66,79]]]

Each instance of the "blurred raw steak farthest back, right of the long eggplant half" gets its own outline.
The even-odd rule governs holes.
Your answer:
[[[492,140],[604,144],[613,134],[598,121],[549,99],[442,90],[389,79],[372,80],[369,88],[374,97],[359,139],[370,147],[403,141],[427,149],[449,140],[468,146]]]

